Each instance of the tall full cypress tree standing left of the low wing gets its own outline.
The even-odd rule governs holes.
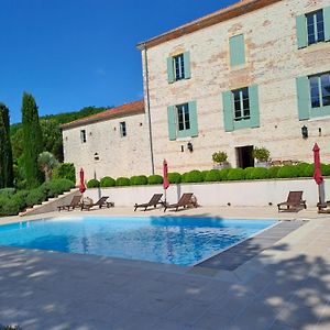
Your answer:
[[[43,175],[37,166],[38,154],[43,151],[42,130],[32,95],[24,92],[22,101],[23,167],[29,187],[37,186]]]

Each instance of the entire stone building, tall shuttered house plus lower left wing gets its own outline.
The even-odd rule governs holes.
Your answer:
[[[329,40],[330,0],[243,0],[140,43],[145,111],[64,125],[65,161],[88,177],[161,174],[163,158],[183,173],[212,168],[218,151],[254,166],[262,146],[312,162],[317,142],[330,163]]]

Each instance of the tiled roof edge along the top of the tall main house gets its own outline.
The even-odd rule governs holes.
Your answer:
[[[234,4],[220,9],[211,14],[195,20],[188,24],[170,30],[164,34],[138,44],[139,50],[151,48],[170,40],[190,34],[195,31],[231,20],[233,18],[246,14],[263,7],[276,3],[282,0],[241,0]]]

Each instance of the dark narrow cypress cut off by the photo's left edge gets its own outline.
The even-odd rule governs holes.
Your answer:
[[[0,188],[13,186],[9,109],[0,103]]]

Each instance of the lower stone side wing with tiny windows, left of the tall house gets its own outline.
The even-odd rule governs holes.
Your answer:
[[[125,122],[127,136],[120,123]],[[86,142],[81,141],[86,132]],[[134,102],[63,125],[64,160],[85,170],[86,179],[151,173],[144,103]]]

